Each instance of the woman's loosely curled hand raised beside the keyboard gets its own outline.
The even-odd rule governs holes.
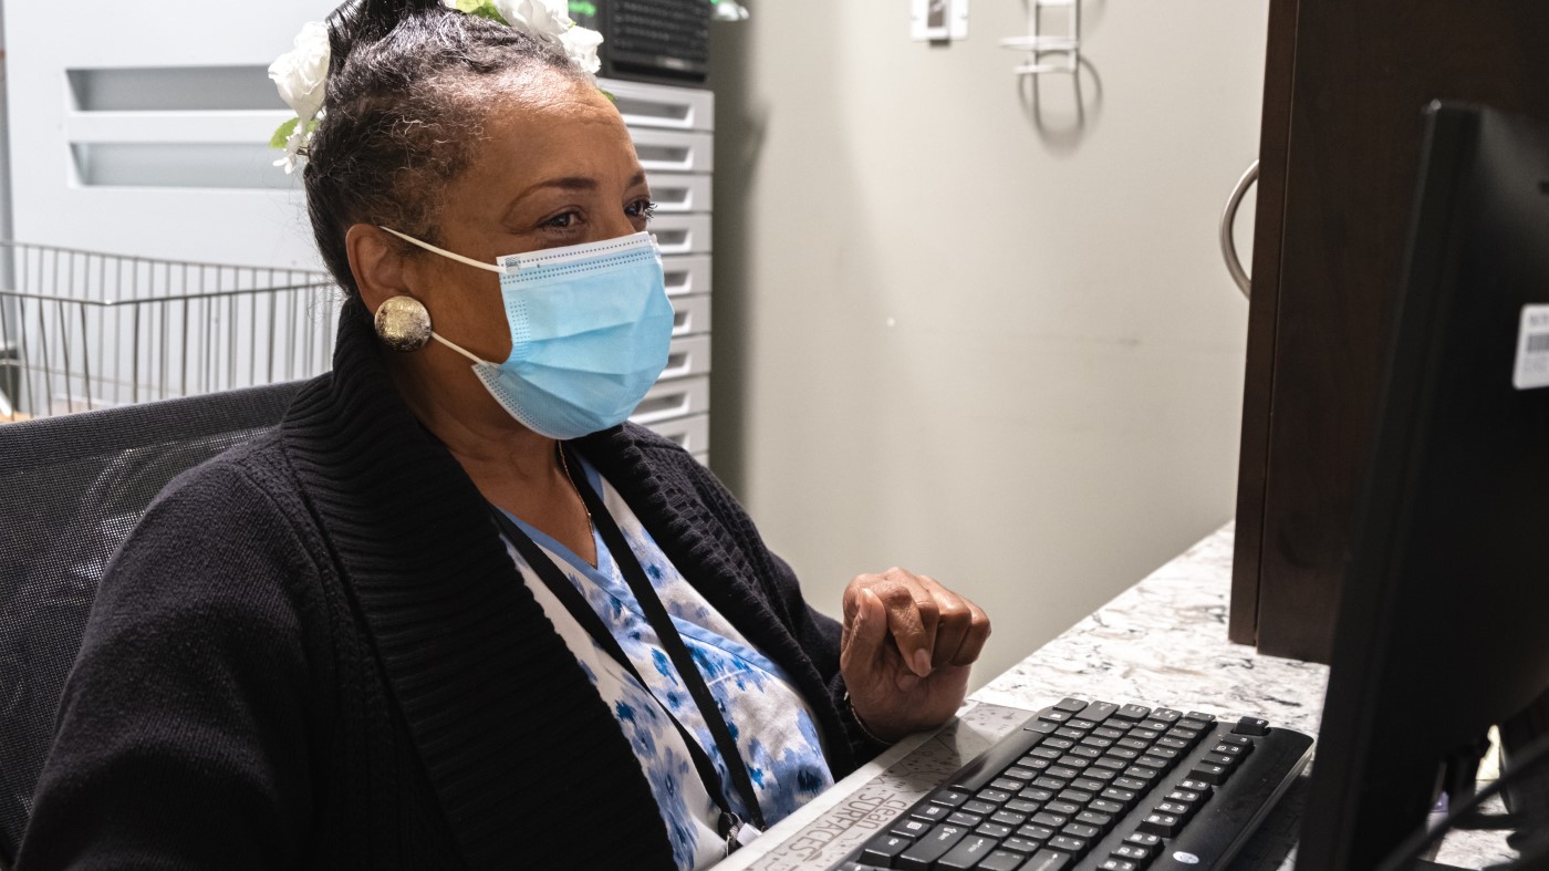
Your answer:
[[[840,671],[861,724],[895,741],[946,722],[988,637],[984,611],[932,578],[858,575],[844,589]]]

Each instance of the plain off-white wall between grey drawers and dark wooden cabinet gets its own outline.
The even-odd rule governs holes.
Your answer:
[[[1015,0],[950,46],[903,0],[748,6],[714,31],[716,468],[819,606],[891,564],[985,606],[988,680],[1231,516],[1216,226],[1267,3],[1086,0],[1080,126],[1069,76],[1025,108]]]

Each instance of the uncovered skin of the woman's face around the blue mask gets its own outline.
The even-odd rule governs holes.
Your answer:
[[[579,245],[646,228],[651,191],[613,104],[595,87],[542,77],[485,119],[474,158],[446,186],[437,220],[448,251],[503,254]],[[406,265],[435,332],[499,363],[511,353],[499,276],[424,253]]]

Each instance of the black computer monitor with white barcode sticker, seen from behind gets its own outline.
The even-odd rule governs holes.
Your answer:
[[[1549,688],[1549,122],[1427,115],[1298,868],[1377,868]]]

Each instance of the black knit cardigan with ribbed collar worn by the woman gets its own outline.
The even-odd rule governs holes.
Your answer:
[[[576,446],[785,670],[833,775],[874,755],[838,625],[731,494],[632,425]],[[169,485],[102,578],[19,860],[64,866],[672,866],[618,722],[359,304],[277,432]]]

